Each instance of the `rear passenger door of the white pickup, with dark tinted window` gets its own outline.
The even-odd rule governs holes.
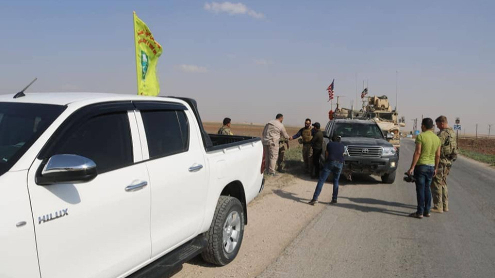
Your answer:
[[[151,256],[155,256],[197,234],[204,219],[208,169],[195,120],[185,106],[134,104],[144,127],[139,132],[145,135],[143,156],[149,158]]]

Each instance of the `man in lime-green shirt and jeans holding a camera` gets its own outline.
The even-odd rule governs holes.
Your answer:
[[[416,183],[417,210],[409,216],[422,218],[430,216],[431,208],[431,180],[436,175],[440,161],[440,139],[433,133],[433,120],[423,118],[421,121],[421,134],[415,140],[415,150],[412,155],[411,167],[407,175],[414,172]]]

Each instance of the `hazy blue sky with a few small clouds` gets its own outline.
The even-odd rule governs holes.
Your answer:
[[[492,0],[0,0],[0,93],[136,92],[132,11],[163,46],[160,95],[198,101],[204,120],[323,125],[363,80],[411,119],[495,123]],[[398,72],[398,73],[396,73]],[[495,133],[495,126],[492,134]]]

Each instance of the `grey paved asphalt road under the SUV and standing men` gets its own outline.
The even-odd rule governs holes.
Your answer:
[[[395,183],[356,177],[336,205],[316,204],[326,208],[260,277],[495,277],[495,170],[460,157],[449,211],[411,218],[415,189],[402,173],[413,147],[402,140]]]

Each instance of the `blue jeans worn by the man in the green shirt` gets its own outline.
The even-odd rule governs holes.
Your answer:
[[[414,167],[414,178],[416,179],[416,199],[417,199],[417,211],[416,213],[422,215],[423,213],[429,213],[431,208],[431,180],[433,179],[433,173],[435,168],[428,165],[416,165]]]

